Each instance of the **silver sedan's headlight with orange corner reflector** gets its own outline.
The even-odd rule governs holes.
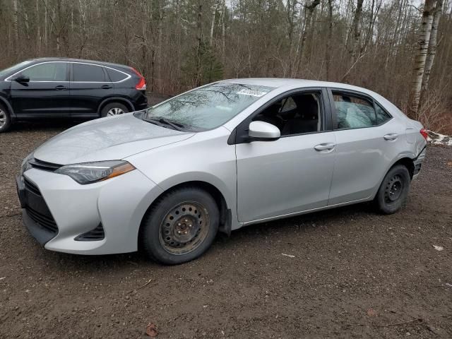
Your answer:
[[[129,162],[122,160],[85,162],[83,164],[66,165],[60,167],[55,173],[69,175],[78,184],[92,184],[112,177],[133,171]]]

